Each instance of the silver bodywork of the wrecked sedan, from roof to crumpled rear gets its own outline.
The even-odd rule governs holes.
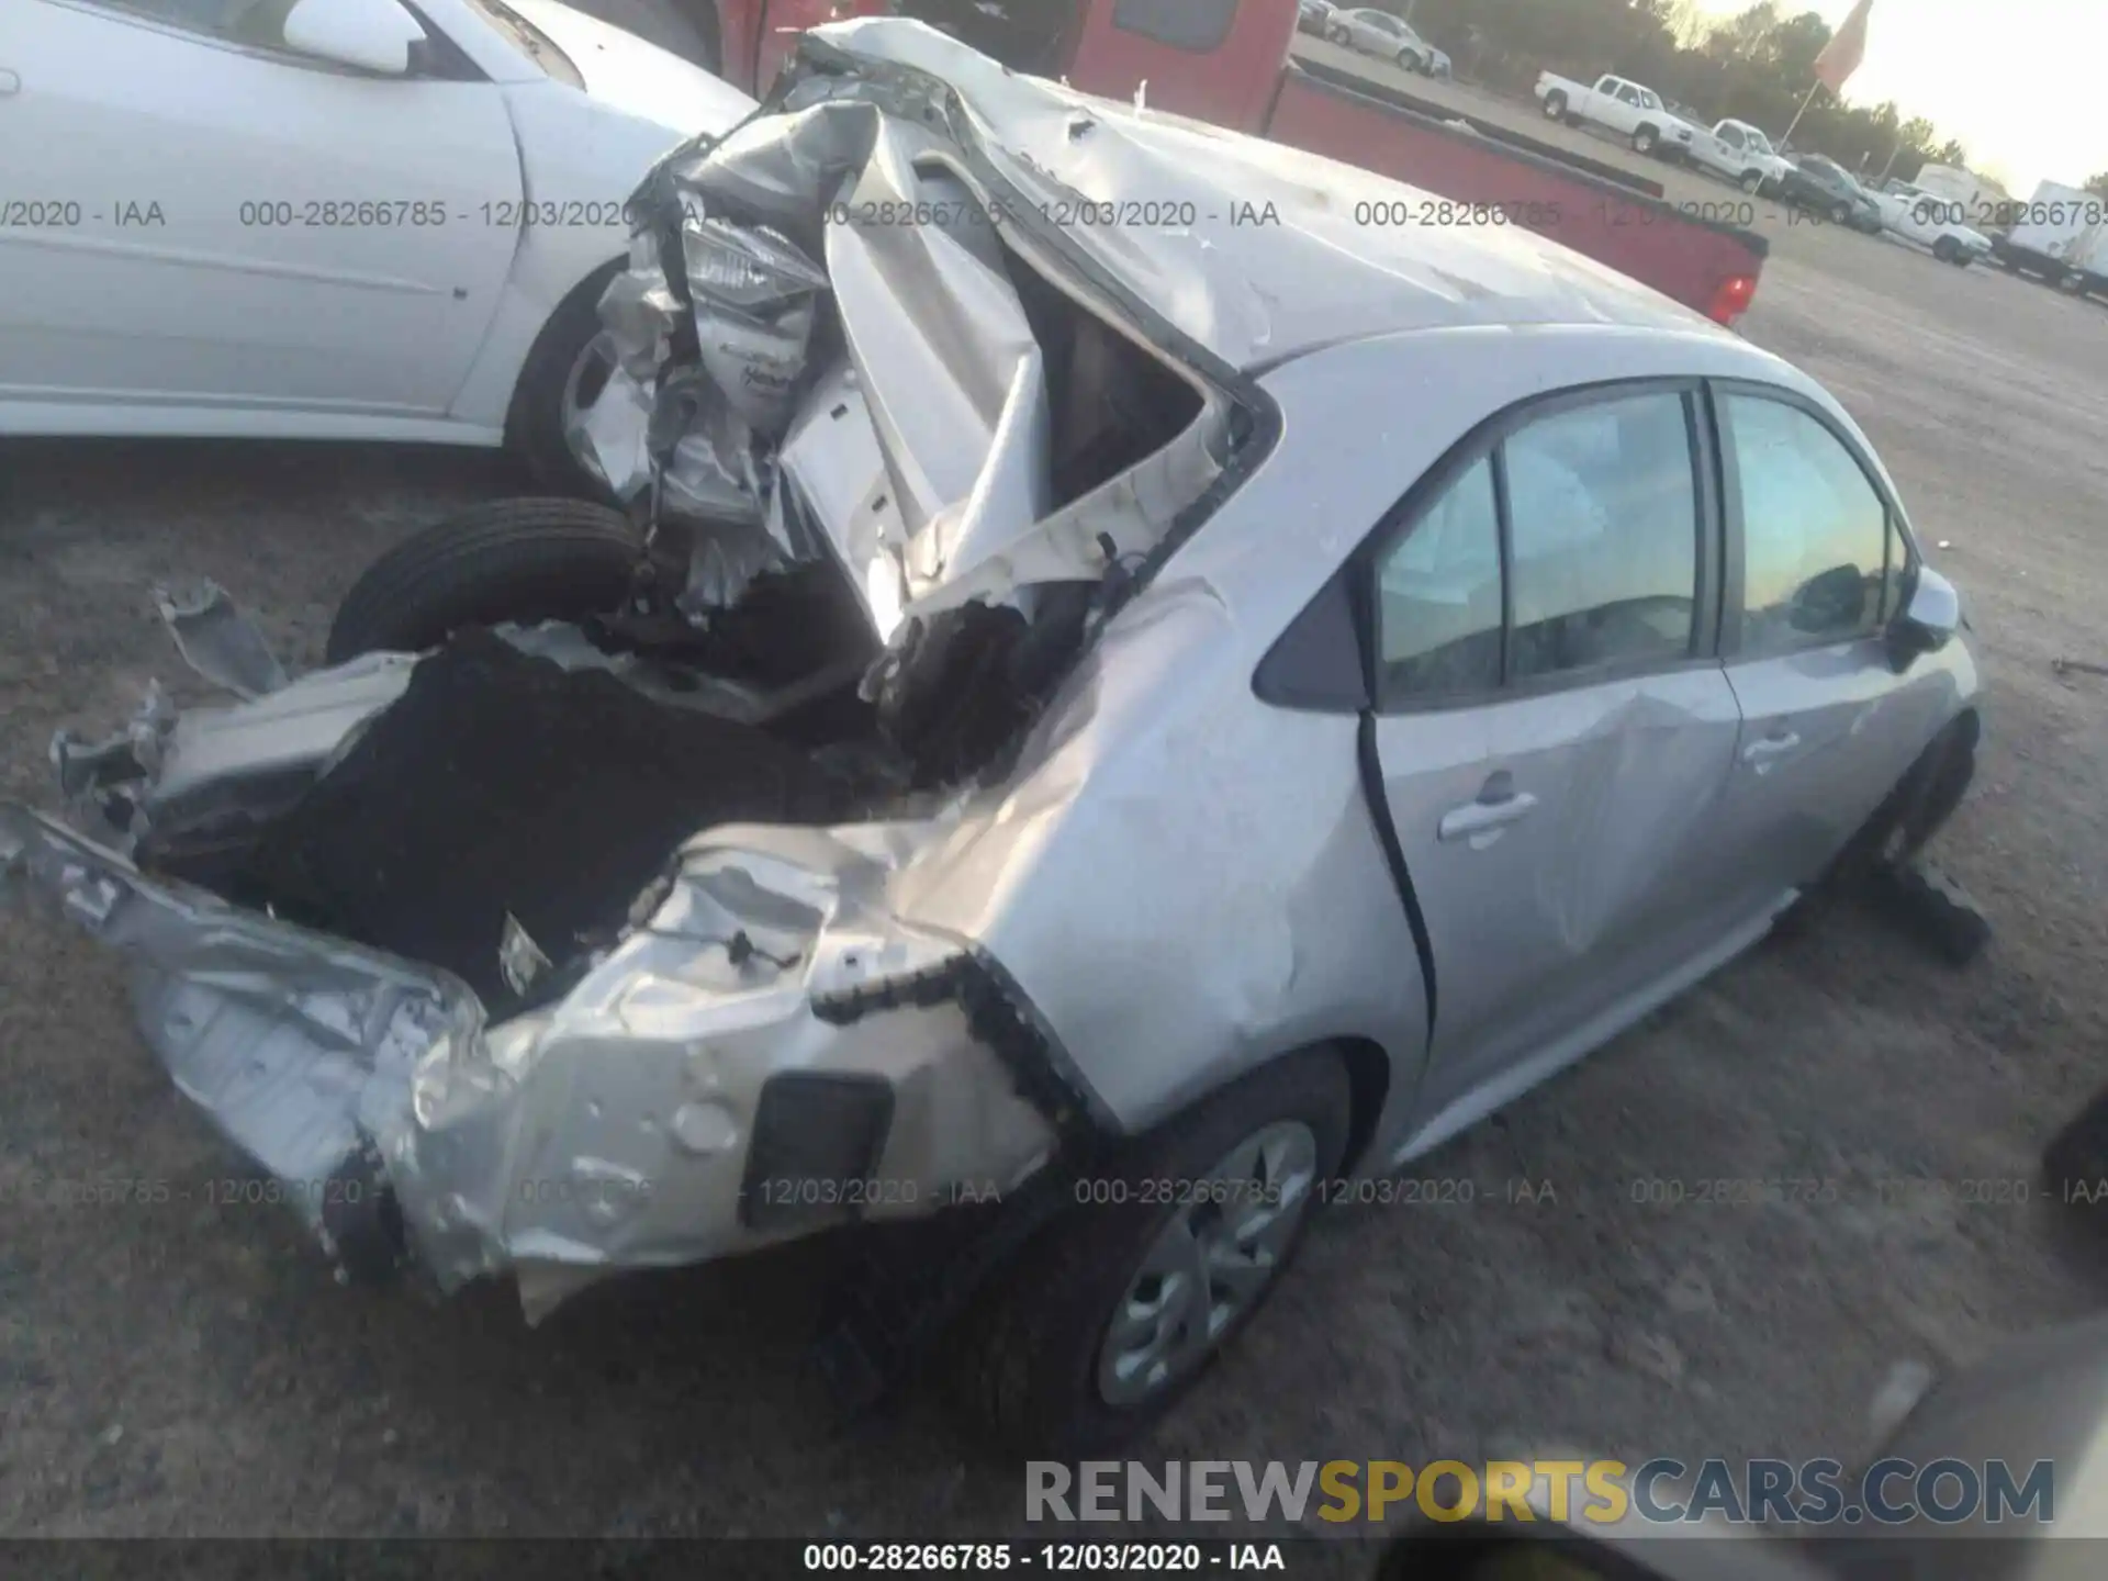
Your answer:
[[[1001,769],[900,822],[698,833],[580,982],[495,1027],[443,974],[143,879],[0,809],[0,881],[25,873],[139,957],[141,1029],[179,1086],[289,1180],[329,1178],[333,1149],[371,1149],[441,1284],[514,1269],[540,1311],[616,1267],[788,1233],[742,1218],[759,1092],[780,1073],[890,1086],[877,1172],[913,1193],[866,1212],[932,1212],[961,1183],[1031,1176],[1062,1117],[1024,1096],[959,1003],[902,993],[963,963],[1001,982],[1033,1058],[1100,1132],[1143,1132],[1284,1052],[1351,1043],[1383,1094],[1353,1168],[1383,1170],[1754,940],[1975,694],[1952,641],[1901,677],[1823,649],[1448,713],[1263,702],[1254,672],[1282,632],[1429,468],[1518,403],[1615,379],[1750,379],[1872,451],[1802,373],[1562,249],[1499,228],[1372,234],[1347,223],[1366,173],[1012,78],[911,23],[822,36],[951,80],[1020,192],[1058,177],[1212,215],[1250,183],[1286,213],[1081,228],[1069,257],[1006,234],[1075,301],[1113,312],[1113,280],[1197,341],[1193,360],[1231,369],[1189,369],[1208,388],[1202,417],[1041,516],[1037,350],[980,242],[913,226],[831,236],[828,264],[852,280],[850,360],[814,369],[780,460],[881,630],[902,609],[1102,575],[1100,531],[1126,559],[1180,523]],[[921,154],[963,179],[923,129],[896,133],[839,101],[839,82],[828,93],[736,133],[719,169],[828,200],[814,171],[860,129],[887,150],[864,179],[877,169],[896,190]],[[906,293],[898,310],[890,291]],[[1119,331],[1145,337],[1138,318]],[[1231,476],[1235,379],[1273,432]],[[1202,497],[1212,514],[1193,521]],[[803,552],[782,521],[772,538]],[[597,662],[561,628],[516,641]],[[156,715],[131,734],[164,746],[148,814],[259,765],[327,767],[413,664],[379,656],[173,725]],[[1767,710],[1815,723],[1798,761],[1756,774],[1743,742]],[[1442,841],[1442,818],[1497,767],[1533,778],[1539,816]],[[1402,883],[1427,913],[1433,982]],[[740,936],[750,949],[731,949]],[[845,999],[868,1014],[820,1014]]]

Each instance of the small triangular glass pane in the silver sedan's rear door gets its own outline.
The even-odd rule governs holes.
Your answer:
[[[1501,685],[1501,527],[1492,464],[1473,462],[1377,571],[1379,696]]]

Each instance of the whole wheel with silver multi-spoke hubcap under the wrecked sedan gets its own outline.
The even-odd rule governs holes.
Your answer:
[[[1056,1459],[1145,1431],[1275,1290],[1345,1157],[1349,1111],[1341,1058],[1307,1050],[1084,1180],[963,1326],[957,1383],[978,1423]],[[1153,1191],[1168,1180],[1180,1187]]]

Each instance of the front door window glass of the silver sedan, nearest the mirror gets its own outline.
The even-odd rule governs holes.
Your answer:
[[[1889,512],[1851,451],[1809,413],[1762,396],[1726,396],[1724,428],[1741,504],[1743,651],[1870,632]]]

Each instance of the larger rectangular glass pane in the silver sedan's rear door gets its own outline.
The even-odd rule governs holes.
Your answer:
[[[1680,394],[1604,401],[1509,436],[1516,639],[1528,679],[1691,651],[1697,485]]]

